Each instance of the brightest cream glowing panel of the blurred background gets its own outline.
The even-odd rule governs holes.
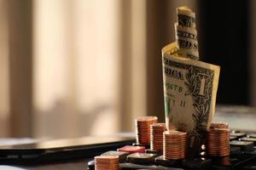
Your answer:
[[[119,131],[119,12],[118,0],[35,1],[37,136]]]

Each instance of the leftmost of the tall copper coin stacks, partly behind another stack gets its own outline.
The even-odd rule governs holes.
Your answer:
[[[150,144],[150,125],[157,120],[156,116],[143,116],[135,120],[137,144]]]

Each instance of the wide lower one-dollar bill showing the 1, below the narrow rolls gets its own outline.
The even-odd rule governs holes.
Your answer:
[[[177,42],[162,48],[166,127],[187,132],[198,150],[215,112],[220,68],[178,54]]]

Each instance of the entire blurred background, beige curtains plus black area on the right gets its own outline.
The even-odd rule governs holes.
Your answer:
[[[0,137],[66,138],[164,121],[160,50],[196,13],[219,105],[256,105],[256,1],[0,0]]]

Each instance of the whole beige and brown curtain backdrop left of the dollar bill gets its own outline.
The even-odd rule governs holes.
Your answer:
[[[174,41],[177,6],[195,10],[195,1],[0,3],[2,136],[107,135],[132,131],[137,116],[164,121],[160,49]]]

